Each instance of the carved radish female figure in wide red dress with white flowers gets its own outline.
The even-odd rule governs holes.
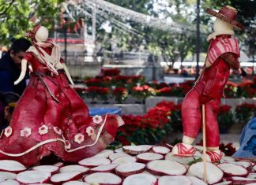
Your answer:
[[[47,28],[28,31],[32,46],[21,62],[23,78],[29,63],[31,79],[13,119],[1,133],[0,160],[12,159],[30,166],[54,153],[63,161],[80,161],[104,150],[124,124],[115,115],[89,117],[88,107],[70,87],[73,84],[58,46],[48,39]]]

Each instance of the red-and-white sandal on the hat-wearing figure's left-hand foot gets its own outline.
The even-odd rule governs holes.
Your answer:
[[[194,146],[181,142],[176,144],[171,152],[175,157],[192,157],[196,150]]]

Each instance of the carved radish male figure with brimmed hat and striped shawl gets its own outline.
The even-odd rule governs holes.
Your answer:
[[[201,75],[183,100],[183,142],[174,146],[172,154],[176,157],[194,155],[192,143],[201,128],[201,105],[205,105],[206,161],[215,162],[222,157],[217,123],[220,98],[224,97],[230,68],[239,69],[240,52],[238,41],[233,37],[234,28],[243,30],[243,25],[235,20],[237,10],[231,6],[224,6],[218,13],[212,9],[206,12],[216,17],[214,32],[207,38],[210,45]]]

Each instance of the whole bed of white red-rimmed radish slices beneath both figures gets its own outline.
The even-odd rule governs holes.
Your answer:
[[[77,164],[39,165],[26,168],[17,161],[0,161],[0,185],[204,185],[256,184],[256,165],[223,157],[218,164],[207,163],[207,183],[203,162],[194,157],[171,155],[170,146],[123,146],[104,150]],[[191,165],[192,164],[192,165]]]

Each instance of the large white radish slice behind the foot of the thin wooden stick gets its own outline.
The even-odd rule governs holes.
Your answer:
[[[216,167],[216,165],[213,165],[210,162],[206,163],[206,183],[213,184],[213,183],[219,183],[220,180],[223,178],[223,172],[220,168]],[[199,179],[204,178],[204,163],[198,162],[193,165],[190,165],[190,168],[188,172],[186,173],[186,176],[196,176]]]

